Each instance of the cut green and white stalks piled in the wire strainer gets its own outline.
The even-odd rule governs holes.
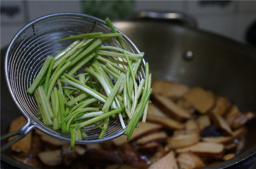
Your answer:
[[[141,117],[143,123],[146,121],[145,111],[152,93],[148,63],[145,77],[136,79],[144,53],[129,52],[121,38],[124,34],[117,32],[109,18],[106,23],[113,33],[95,32],[59,39],[59,42],[68,39],[74,42],[55,56],[47,56],[27,90],[34,95],[38,119],[45,126],[70,132],[71,149],[76,141],[87,137],[83,128],[88,125],[94,124],[102,130],[100,139],[109,121],[117,118],[129,140]],[[113,39],[121,47],[102,43]],[[103,126],[98,125],[99,121]]]

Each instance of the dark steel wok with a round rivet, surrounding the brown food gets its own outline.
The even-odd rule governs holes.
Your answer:
[[[191,87],[200,86],[227,96],[241,111],[256,112],[255,48],[198,30],[195,22],[181,15],[169,18],[174,22],[166,20],[167,15],[162,15],[160,19],[155,16],[151,15],[148,19],[148,15],[143,15],[140,19],[113,22],[140,51],[145,52],[144,58],[150,64],[153,78],[181,82]],[[6,133],[14,117],[21,115],[4,84],[3,57],[4,51],[1,51],[1,134]],[[255,122],[247,125],[241,153],[210,168],[248,168],[255,162]],[[28,168],[10,158],[8,152],[1,152],[1,162]]]

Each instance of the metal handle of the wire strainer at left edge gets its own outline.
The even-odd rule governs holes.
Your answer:
[[[17,131],[1,135],[1,141],[17,135],[17,137],[13,138],[9,142],[1,145],[1,151],[4,151],[5,149],[9,148],[12,144],[16,143],[18,140],[25,137],[34,128],[35,128],[35,125],[28,122],[24,127],[22,127],[21,129],[19,129]]]

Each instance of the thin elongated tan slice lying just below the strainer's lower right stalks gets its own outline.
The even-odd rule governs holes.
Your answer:
[[[155,143],[165,143],[167,140],[167,133],[164,131],[156,132],[152,134],[145,135],[136,140],[138,145],[144,145],[147,143],[155,142]]]

